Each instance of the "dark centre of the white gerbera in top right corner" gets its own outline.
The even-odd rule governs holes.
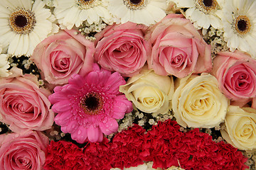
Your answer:
[[[250,31],[250,19],[247,16],[238,16],[238,18],[235,19],[235,30],[240,35],[245,35]]]

